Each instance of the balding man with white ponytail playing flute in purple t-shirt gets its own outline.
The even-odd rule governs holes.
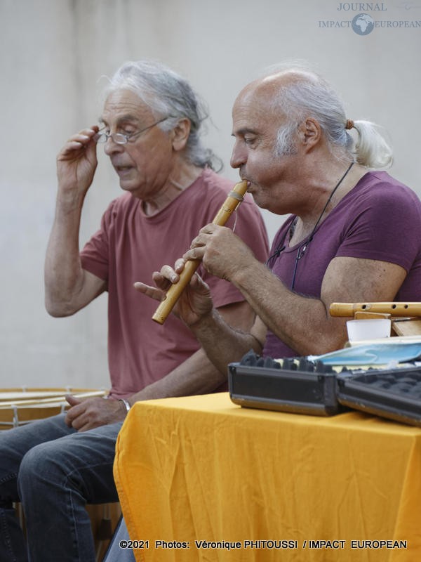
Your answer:
[[[248,332],[215,311],[197,275],[176,306],[221,373],[250,348],[283,358],[342,347],[346,318],[330,317],[335,301],[421,301],[421,203],[377,171],[392,153],[374,124],[347,119],[331,86],[296,67],[248,84],[232,115],[232,166],[260,207],[290,213],[267,265],[227,228],[210,224],[174,269],[154,274],[161,290],[136,284],[161,299],[185,260],[201,259],[241,291],[256,313]]]

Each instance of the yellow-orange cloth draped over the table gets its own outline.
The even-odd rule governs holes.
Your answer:
[[[150,400],[114,476],[137,561],[421,560],[421,429],[379,417]]]

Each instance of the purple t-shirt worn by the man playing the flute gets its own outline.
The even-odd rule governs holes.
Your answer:
[[[290,216],[274,238],[269,261],[275,273],[293,291],[320,297],[330,261],[338,256],[396,263],[406,270],[394,301],[421,301],[421,202],[417,195],[385,171],[370,171],[356,184],[317,228],[313,240],[288,247]],[[304,247],[304,248],[303,248]],[[304,249],[304,251],[303,251]],[[293,311],[291,311],[293,313]],[[263,355],[272,358],[299,355],[268,332]]]

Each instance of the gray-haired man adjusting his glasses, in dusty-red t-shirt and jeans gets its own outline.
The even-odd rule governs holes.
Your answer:
[[[192,333],[171,315],[151,320],[156,304],[135,292],[162,263],[174,261],[213,220],[232,188],[212,169],[199,138],[206,114],[187,82],[153,63],[127,63],[107,89],[100,126],[69,138],[58,155],[55,221],[45,267],[46,308],[67,316],[102,292],[109,304],[109,399],[68,397],[67,414],[0,432],[0,561],[25,561],[27,549],[12,502],[25,511],[32,562],[95,561],[86,503],[118,501],[112,467],[116,436],[137,400],[208,393],[220,375]],[[119,176],[123,195],[79,251],[83,200],[96,150]],[[234,226],[234,217],[230,226]],[[251,198],[238,211],[236,234],[267,257],[267,237]],[[250,329],[254,313],[230,283],[201,272],[220,314]]]

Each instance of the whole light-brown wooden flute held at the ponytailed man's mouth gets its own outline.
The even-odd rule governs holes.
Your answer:
[[[234,185],[234,188],[227,199],[225,200],[224,204],[216,214],[215,218],[213,219],[212,225],[215,226],[224,226],[227,222],[228,218],[232,215],[233,211],[238,207],[238,205],[243,200],[243,195],[246,193],[247,190],[247,182],[241,181]],[[199,236],[192,242],[193,249],[187,252],[187,255],[190,254],[189,258],[185,263],[185,267],[180,273],[180,279],[178,280],[175,285],[171,285],[168,289],[166,296],[164,297],[163,301],[161,301],[159,307],[156,309],[156,312],[152,316],[152,320],[158,322],[159,324],[163,324],[168,315],[171,313],[173,306],[178,301],[180,294],[182,294],[183,290],[189,284],[194,272],[199,267],[201,263],[201,258],[203,256],[203,252],[200,250],[200,247],[204,245],[203,238],[207,235],[213,234],[212,225],[209,225],[207,228],[202,228]],[[192,257],[194,254],[194,257]]]

